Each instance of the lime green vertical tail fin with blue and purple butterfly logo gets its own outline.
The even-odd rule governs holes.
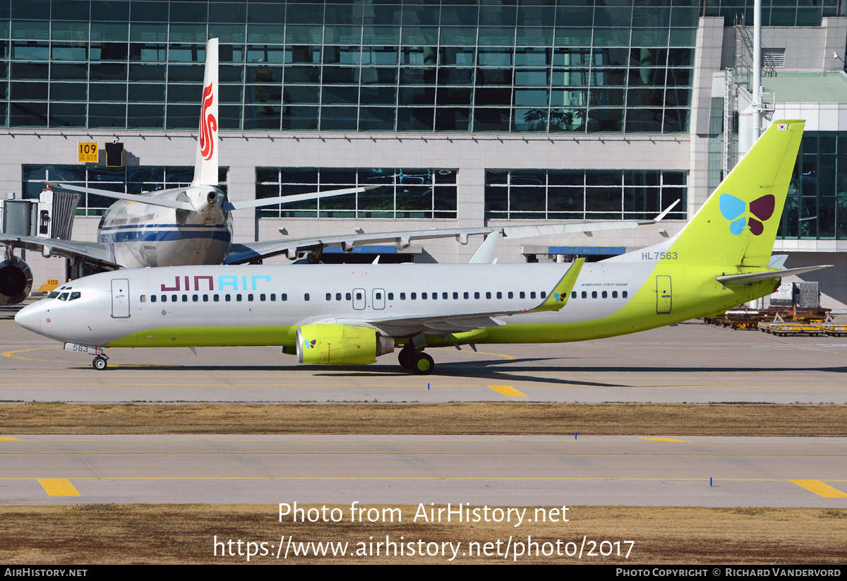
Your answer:
[[[803,136],[779,120],[712,192],[673,243],[686,263],[767,267]]]

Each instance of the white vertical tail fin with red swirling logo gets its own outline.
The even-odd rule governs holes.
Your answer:
[[[206,72],[200,103],[200,132],[191,185],[218,185],[218,39],[206,43]]]

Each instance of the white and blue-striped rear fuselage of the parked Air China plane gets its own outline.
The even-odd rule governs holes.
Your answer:
[[[189,202],[193,210],[119,200],[97,226],[123,268],[220,264],[230,252],[232,219],[226,195],[209,185],[152,192],[150,197]]]

